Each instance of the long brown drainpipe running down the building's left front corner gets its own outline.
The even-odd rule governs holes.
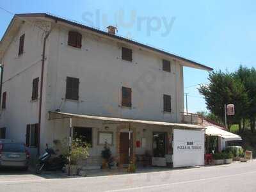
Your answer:
[[[42,116],[42,93],[44,85],[44,63],[45,63],[45,45],[50,32],[46,32],[44,37],[43,53],[42,53],[42,68],[41,68],[41,81],[40,81],[40,97],[39,97],[39,113],[38,113],[38,156],[40,154],[40,132],[41,132],[41,116]]]

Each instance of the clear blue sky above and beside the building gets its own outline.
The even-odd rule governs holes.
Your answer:
[[[12,13],[48,12],[100,29],[117,24],[118,35],[179,54],[214,70],[232,72],[241,64],[256,67],[256,1],[9,0],[1,1],[0,7]],[[120,20],[122,13],[125,23]],[[0,9],[0,37],[12,17]],[[166,29],[170,29],[169,33]],[[191,112],[206,110],[195,84],[207,83],[207,77],[208,72],[203,70],[184,68],[184,92],[189,93]]]

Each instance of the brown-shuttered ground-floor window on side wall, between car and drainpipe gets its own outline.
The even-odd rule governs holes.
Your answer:
[[[26,145],[28,147],[38,147],[39,124],[27,125]]]

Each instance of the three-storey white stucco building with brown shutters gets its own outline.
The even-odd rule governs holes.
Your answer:
[[[45,13],[15,15],[1,40],[0,63],[0,127],[31,150],[42,152],[46,143],[67,137],[70,117],[72,134],[91,144],[91,164],[100,164],[103,141],[126,164],[129,130],[132,154],[154,157],[172,156],[173,129],[202,131],[180,124],[183,67],[212,68],[122,38],[115,29],[99,31]]]

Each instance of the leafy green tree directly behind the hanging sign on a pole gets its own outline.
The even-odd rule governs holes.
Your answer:
[[[224,105],[235,105],[236,113],[228,117],[228,130],[232,124],[241,125],[241,120],[246,116],[244,109],[248,108],[248,95],[243,83],[234,78],[234,74],[221,71],[209,74],[209,85],[200,85],[198,91],[204,95],[207,109],[225,122]]]

